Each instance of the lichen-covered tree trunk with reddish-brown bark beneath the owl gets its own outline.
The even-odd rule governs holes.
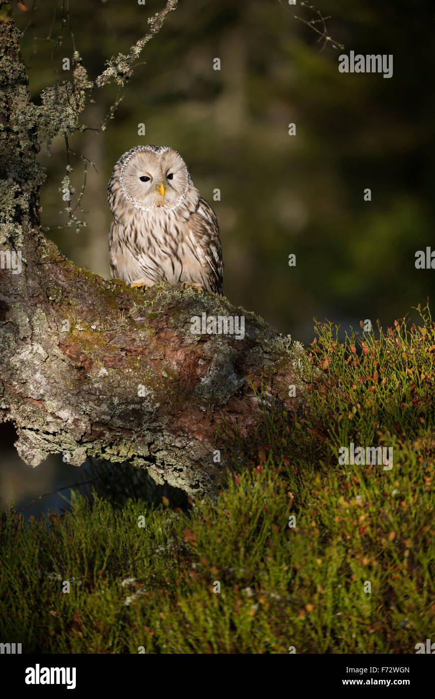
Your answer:
[[[213,494],[224,463],[214,450],[228,452],[228,428],[249,438],[263,410],[295,410],[302,399],[302,346],[226,298],[165,285],[143,294],[104,280],[43,236],[36,157],[41,140],[75,129],[82,95],[77,81],[63,83],[34,105],[19,38],[13,19],[3,20],[0,420],[15,424],[29,466],[59,452],[77,466],[87,456],[130,461],[158,483]],[[8,268],[14,251],[20,273]],[[191,333],[202,313],[244,316],[244,339]],[[288,397],[290,384],[299,398]]]

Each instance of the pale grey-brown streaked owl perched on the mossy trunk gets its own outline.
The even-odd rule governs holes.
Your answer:
[[[112,277],[130,287],[167,282],[223,294],[218,219],[177,151],[128,150],[113,168],[108,201]]]

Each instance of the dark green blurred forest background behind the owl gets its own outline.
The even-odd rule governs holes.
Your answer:
[[[71,58],[72,45],[68,25],[61,31],[61,2],[28,4],[17,22],[27,27],[22,49],[37,100],[46,85],[71,78],[62,59]],[[69,4],[75,43],[95,78],[106,59],[145,33],[163,1]],[[59,215],[64,141],[42,156],[42,222],[61,250],[110,276],[105,193],[112,167],[133,145],[164,144],[182,154],[219,216],[226,295],[279,331],[311,340],[313,315],[344,326],[360,317],[388,324],[425,301],[434,275],[414,262],[415,251],[430,245],[434,222],[433,3],[317,4],[332,15],[328,31],[344,52],[392,54],[393,77],[339,73],[341,51],[321,50],[318,35],[294,18],[314,15],[286,0],[181,0],[147,45],[107,130],[70,139],[98,171],[88,174],[87,227],[79,233],[57,229],[66,222]],[[94,99],[83,121],[95,128],[117,89],[96,91]],[[146,136],[138,136],[141,122]],[[288,136],[290,122],[296,136]],[[78,155],[71,164],[79,192],[83,164]],[[371,202],[363,199],[366,187]],[[221,201],[213,201],[215,188]]]

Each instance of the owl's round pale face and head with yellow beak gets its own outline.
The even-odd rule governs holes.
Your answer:
[[[176,209],[193,187],[184,160],[167,146],[135,146],[124,153],[117,166],[112,180],[119,178],[119,194],[142,211]]]

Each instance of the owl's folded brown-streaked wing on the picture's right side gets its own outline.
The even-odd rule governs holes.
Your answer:
[[[207,277],[209,291],[223,296],[223,261],[219,222],[212,207],[202,197],[196,211],[189,216],[187,224],[193,238],[192,242],[196,247],[196,254]]]

